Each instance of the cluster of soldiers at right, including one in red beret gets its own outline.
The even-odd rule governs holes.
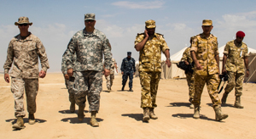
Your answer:
[[[241,105],[241,91],[245,68],[246,75],[249,75],[248,50],[247,45],[242,42],[245,36],[242,31],[237,31],[236,40],[227,42],[225,45],[222,74],[227,74],[229,79],[220,101],[218,86],[222,79],[219,79],[218,41],[217,37],[210,33],[212,28],[212,20],[204,19],[202,22],[203,33],[190,38],[191,45],[184,51],[181,61],[187,65],[195,64],[195,72],[185,71],[189,86],[190,108],[195,108],[193,117],[195,119],[200,118],[201,93],[205,83],[207,83],[207,90],[212,99],[216,120],[224,120],[228,117],[228,114],[222,113],[221,103],[226,103],[227,96],[234,87],[236,90],[234,107],[243,108]]]

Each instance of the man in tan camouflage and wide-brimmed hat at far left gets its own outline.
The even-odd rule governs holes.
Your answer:
[[[15,117],[17,122],[13,125],[15,129],[24,128],[23,117],[24,110],[23,97],[24,89],[26,92],[27,111],[29,113],[28,123],[33,125],[36,120],[36,97],[38,94],[38,76],[44,78],[47,69],[49,69],[48,58],[45,53],[43,43],[37,36],[28,31],[29,22],[27,17],[20,17],[15,22],[20,29],[20,34],[15,36],[9,42],[7,58],[4,69],[4,80],[9,83],[9,69],[11,70],[11,92],[15,97]],[[38,57],[41,62],[41,71],[38,72]]]

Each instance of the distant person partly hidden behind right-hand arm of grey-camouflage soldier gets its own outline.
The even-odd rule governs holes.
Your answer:
[[[114,79],[114,68],[116,69],[116,72],[118,73],[118,69],[117,69],[117,63],[115,61],[114,58],[112,58],[111,60],[112,65],[111,65],[111,69],[110,69],[110,75],[108,75],[107,77],[105,76],[106,80],[107,80],[107,88],[108,88],[108,92],[111,91],[111,86],[113,85],[113,79]],[[104,65],[105,68],[105,65]]]

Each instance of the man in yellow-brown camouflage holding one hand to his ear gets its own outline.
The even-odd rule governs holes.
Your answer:
[[[141,108],[143,108],[143,121],[156,120],[154,114],[156,94],[161,74],[161,52],[166,55],[166,64],[171,67],[169,47],[164,36],[155,33],[155,21],[149,19],[145,22],[144,33],[137,34],[135,48],[140,52],[139,76],[142,86]]]

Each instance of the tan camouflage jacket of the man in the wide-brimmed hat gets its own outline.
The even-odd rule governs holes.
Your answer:
[[[17,35],[9,42],[7,58],[3,65],[4,73],[9,73],[9,69],[14,63],[10,73],[12,77],[37,79],[39,75],[38,57],[42,70],[46,72],[49,69],[49,62],[40,39],[31,33],[24,40]]]

